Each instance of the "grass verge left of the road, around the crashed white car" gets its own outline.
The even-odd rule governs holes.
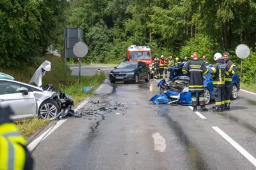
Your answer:
[[[61,90],[67,93],[74,99],[74,104],[79,103],[85,97],[90,96],[93,92],[83,92],[84,87],[95,87],[97,88],[102,83],[106,76],[104,73],[95,74],[94,76],[81,76],[81,83],[77,84],[77,76],[72,76],[71,70],[67,67],[67,76],[64,75],[64,62],[58,57],[49,55],[42,57],[40,63],[44,60],[51,62],[51,71],[48,71],[43,77],[43,86],[47,84],[54,85],[56,90]],[[38,66],[39,67],[39,66]],[[33,74],[37,68],[35,67],[24,67],[22,69],[1,69],[0,72],[10,74],[16,81],[22,81],[29,83]],[[34,118],[32,120],[24,120],[17,123],[17,126],[25,138],[34,134],[38,129],[44,127],[49,123],[49,120],[42,120]]]

